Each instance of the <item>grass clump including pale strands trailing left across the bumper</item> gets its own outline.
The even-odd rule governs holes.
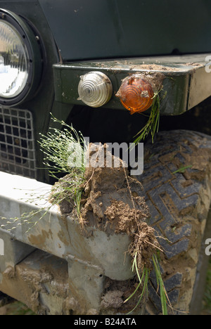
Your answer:
[[[39,141],[41,150],[44,153],[44,165],[49,169],[49,176],[58,180],[60,175],[65,175],[51,188],[47,194],[32,191],[25,202],[32,203],[37,209],[25,212],[20,217],[7,220],[4,217],[3,228],[12,231],[17,226],[30,225],[29,230],[37,225],[46,214],[51,217],[51,209],[55,205],[61,205],[64,200],[70,202],[70,209],[75,208],[80,218],[80,203],[82,191],[84,189],[84,172],[86,169],[86,143],[81,133],[52,116],[53,122],[60,124],[63,130],[50,128],[49,133],[41,134]],[[40,191],[38,191],[40,192]],[[39,205],[39,201],[43,206]],[[37,219],[37,220],[36,220]],[[15,225],[11,227],[12,225]],[[29,231],[28,230],[28,231]]]

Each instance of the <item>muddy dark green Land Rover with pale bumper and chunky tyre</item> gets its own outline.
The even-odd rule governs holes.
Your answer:
[[[209,0],[0,0],[0,306],[12,297],[47,315],[163,311],[154,271],[148,298],[125,307],[137,288],[127,234],[84,235],[58,209],[51,220],[34,216],[30,230],[15,221],[39,208],[26,191],[51,190],[39,141],[65,122],[91,143],[133,143],[149,128],[136,179],[162,247],[167,307],[200,314],[211,238],[211,117],[201,105],[211,96],[210,20]]]

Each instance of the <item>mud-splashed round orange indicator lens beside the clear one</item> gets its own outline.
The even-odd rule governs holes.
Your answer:
[[[143,78],[143,75],[132,75],[122,81],[116,96],[124,108],[134,114],[144,112],[153,104],[153,87],[150,82]]]

